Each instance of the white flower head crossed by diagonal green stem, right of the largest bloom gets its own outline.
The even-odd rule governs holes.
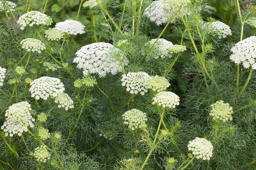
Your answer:
[[[154,44],[156,39],[150,40],[149,45],[152,46]],[[172,54],[169,52],[169,48],[173,46],[173,43],[170,41],[167,41],[163,38],[159,38],[157,42],[155,43],[153,49],[151,49],[146,57],[147,60],[155,60],[159,57],[166,58],[166,57],[172,57]]]

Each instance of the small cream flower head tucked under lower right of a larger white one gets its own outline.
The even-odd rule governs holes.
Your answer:
[[[74,108],[74,102],[66,93],[58,93],[57,97],[54,99],[55,103],[58,103],[58,108],[65,108],[68,110],[69,108]]]

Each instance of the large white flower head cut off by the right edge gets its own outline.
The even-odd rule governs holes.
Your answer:
[[[251,36],[236,43],[231,51],[233,54],[229,56],[230,60],[236,64],[242,63],[245,68],[252,66],[256,70],[256,36]]]

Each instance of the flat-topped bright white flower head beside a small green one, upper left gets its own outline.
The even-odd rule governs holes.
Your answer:
[[[83,34],[85,26],[79,21],[65,20],[63,22],[56,23],[54,29],[58,29],[62,32],[69,33],[70,35]]]

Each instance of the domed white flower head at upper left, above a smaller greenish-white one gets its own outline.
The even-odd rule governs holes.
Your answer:
[[[28,13],[21,15],[17,22],[21,25],[20,29],[23,30],[26,26],[51,25],[52,18],[39,11],[29,11]]]

